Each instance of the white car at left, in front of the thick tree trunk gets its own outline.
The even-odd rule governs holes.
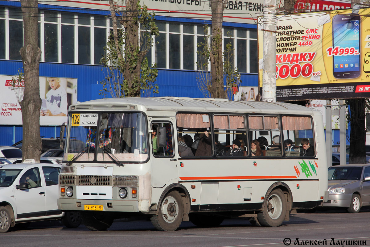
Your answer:
[[[0,233],[18,223],[62,219],[66,227],[81,224],[79,212],[58,210],[61,165],[20,163],[0,165]]]

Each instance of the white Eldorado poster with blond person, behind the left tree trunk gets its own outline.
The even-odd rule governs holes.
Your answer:
[[[13,83],[13,77],[0,76],[1,125],[22,125],[24,81]],[[40,98],[40,125],[60,126],[67,122],[68,107],[77,103],[77,79],[40,77]]]

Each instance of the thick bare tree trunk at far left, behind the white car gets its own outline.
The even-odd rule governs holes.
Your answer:
[[[40,162],[40,79],[41,50],[38,48],[37,0],[21,0],[24,46],[20,49],[24,71],[24,96],[20,102],[23,121],[23,160],[34,158]]]

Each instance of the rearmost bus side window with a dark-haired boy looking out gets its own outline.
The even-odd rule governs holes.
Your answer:
[[[283,116],[285,155],[288,157],[314,157],[312,119],[308,116]]]

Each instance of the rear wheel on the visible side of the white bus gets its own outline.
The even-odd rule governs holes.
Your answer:
[[[269,194],[262,212],[257,219],[262,226],[280,226],[285,218],[286,199],[283,191],[276,189]]]

